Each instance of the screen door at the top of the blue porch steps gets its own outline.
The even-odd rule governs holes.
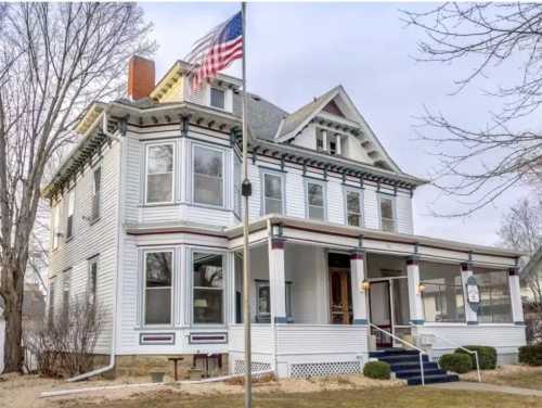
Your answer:
[[[388,280],[371,282],[371,290],[369,292],[371,322],[378,328],[392,333],[391,326],[391,305],[390,305],[390,282]],[[393,339],[379,330],[372,330],[376,336],[376,347],[391,347]]]

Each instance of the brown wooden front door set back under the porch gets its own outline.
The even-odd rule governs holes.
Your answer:
[[[330,313],[333,324],[352,323],[350,269],[330,268]]]

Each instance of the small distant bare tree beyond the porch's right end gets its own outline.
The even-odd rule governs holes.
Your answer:
[[[542,202],[519,200],[503,217],[499,235],[505,246],[532,256],[542,246]],[[542,280],[538,270],[522,279],[532,294],[531,306],[542,311]]]

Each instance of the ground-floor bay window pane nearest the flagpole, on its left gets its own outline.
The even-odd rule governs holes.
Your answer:
[[[194,323],[223,323],[223,256],[194,252],[193,267]]]

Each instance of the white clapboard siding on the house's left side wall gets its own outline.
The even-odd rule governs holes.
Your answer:
[[[104,151],[102,157],[95,157],[93,166],[86,166],[82,176],[75,183],[74,233],[66,240],[67,191],[59,203],[61,206],[59,247],[51,251],[49,275],[55,277],[55,316],[60,316],[62,307],[62,289],[65,273],[69,268],[70,297],[81,297],[88,286],[88,258],[99,255],[98,302],[104,309],[106,318],[103,334],[96,344],[98,353],[106,353],[112,341],[113,288],[117,262],[117,207],[119,193],[118,143]],[[92,206],[93,170],[101,167],[102,191],[100,219],[90,222]]]

